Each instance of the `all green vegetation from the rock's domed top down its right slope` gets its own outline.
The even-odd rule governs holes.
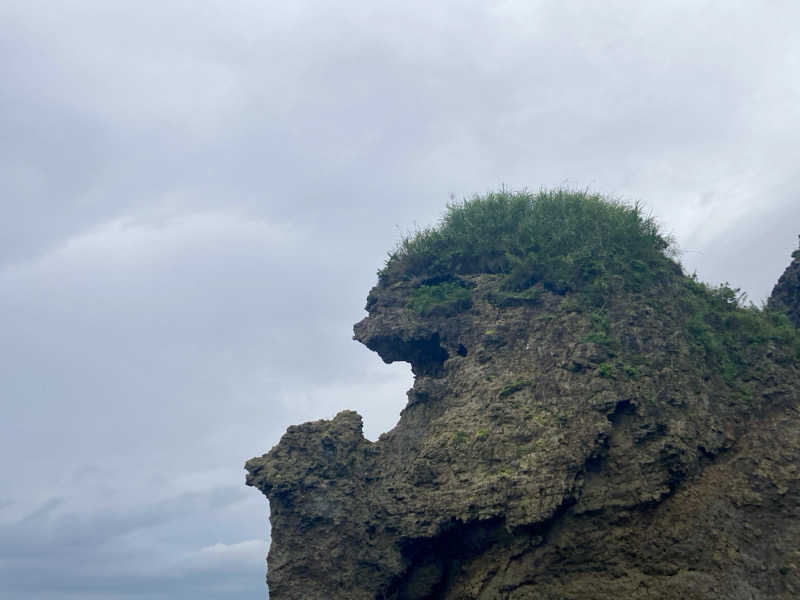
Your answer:
[[[656,311],[677,309],[698,364],[728,384],[760,376],[765,356],[800,359],[800,335],[785,315],[743,306],[727,284],[687,277],[672,252],[638,204],[565,190],[500,191],[451,204],[437,227],[403,239],[379,287],[410,282],[406,308],[423,317],[450,317],[481,300],[503,310],[540,305],[547,292],[565,295],[563,306],[587,319],[582,341],[605,353],[597,373],[607,379],[636,378],[646,367],[646,357],[620,345],[613,323],[645,297]],[[494,283],[478,294],[471,276],[486,273]]]

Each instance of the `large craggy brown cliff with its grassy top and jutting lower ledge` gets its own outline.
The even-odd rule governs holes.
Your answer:
[[[453,217],[393,255],[355,338],[411,364],[398,425],[344,411],[246,465],[273,600],[800,597],[797,331],[684,276],[638,209],[651,252],[617,261],[619,206],[586,202],[476,199],[449,217],[504,254],[454,250]],[[515,210],[545,233],[503,238]]]

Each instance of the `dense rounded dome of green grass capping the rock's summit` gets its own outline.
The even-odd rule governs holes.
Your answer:
[[[440,224],[403,238],[378,272],[381,285],[415,277],[504,276],[522,292],[537,282],[600,298],[680,272],[670,240],[639,204],[583,192],[501,190],[448,205]]]

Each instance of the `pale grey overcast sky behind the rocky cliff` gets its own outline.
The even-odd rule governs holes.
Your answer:
[[[0,1],[0,596],[263,599],[242,464],[407,365],[386,251],[506,185],[643,201],[759,303],[800,233],[800,4]]]

